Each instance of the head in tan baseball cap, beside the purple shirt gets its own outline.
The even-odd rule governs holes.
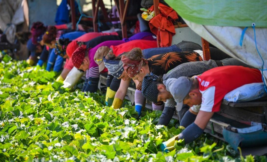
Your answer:
[[[108,54],[110,48],[108,46],[101,46],[97,48],[96,53],[94,55],[94,60],[98,64],[99,72],[103,71],[105,68],[103,57]]]

